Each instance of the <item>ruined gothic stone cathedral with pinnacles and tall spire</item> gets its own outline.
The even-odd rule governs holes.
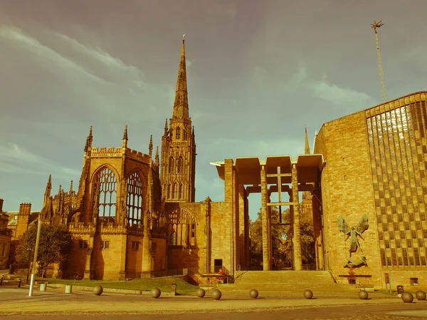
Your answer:
[[[148,154],[127,148],[127,141],[126,127],[121,148],[95,148],[91,127],[78,190],[71,182],[68,192],[60,187],[51,196],[49,177],[41,221],[67,224],[75,239],[71,259],[59,267],[63,276],[125,279],[191,267],[197,273],[209,272],[206,239],[211,234],[206,221],[215,205],[209,197],[194,202],[196,142],[189,117],[184,40],[161,155],[157,148],[153,160],[152,138]],[[35,220],[30,207],[23,205],[16,237]]]

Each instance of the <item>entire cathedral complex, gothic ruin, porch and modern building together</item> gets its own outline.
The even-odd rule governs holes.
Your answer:
[[[172,118],[154,160],[152,140],[147,154],[132,150],[125,128],[121,147],[95,148],[90,128],[77,192],[72,183],[51,196],[49,177],[41,212],[24,203],[17,222],[10,218],[13,237],[37,217],[68,225],[75,243],[60,267],[64,277],[125,279],[167,269],[198,277],[219,268],[233,276],[251,260],[248,195],[260,192],[264,270],[272,269],[270,207],[280,206],[290,209],[292,269],[302,270],[300,217],[310,215],[317,269],[339,279],[351,268],[377,288],[385,274],[394,284],[426,286],[426,100],[427,92],[413,93],[325,123],[313,155],[306,134],[305,155],[297,158],[211,162],[224,180],[225,201],[195,202],[183,41]],[[278,202],[270,201],[273,194]]]

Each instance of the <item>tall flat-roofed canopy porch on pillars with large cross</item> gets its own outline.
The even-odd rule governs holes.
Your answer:
[[[289,206],[290,224],[292,226],[292,269],[302,269],[299,191],[310,191],[320,195],[320,175],[325,167],[323,155],[298,155],[292,160],[290,155],[268,156],[261,160],[258,157],[236,158],[211,162],[218,170],[218,176],[225,182],[225,202],[227,212],[232,215],[232,234],[228,244],[231,249],[230,269],[236,270],[237,264],[248,262],[248,195],[251,192],[261,193],[261,217],[263,230],[263,269],[272,267],[271,246],[271,206]],[[278,202],[270,202],[272,192],[278,192]],[[283,202],[282,194],[288,192],[290,202]],[[314,197],[313,202],[318,199]],[[243,200],[240,198],[243,197]],[[315,200],[316,199],[316,200]],[[313,210],[316,239],[316,264],[323,268],[322,232],[320,210]],[[239,223],[239,221],[245,223]],[[240,228],[239,228],[240,225]],[[244,242],[236,234],[244,234]],[[244,245],[243,245],[244,243]],[[244,254],[240,252],[243,251]],[[244,258],[243,258],[244,257]],[[243,262],[243,259],[244,262]]]

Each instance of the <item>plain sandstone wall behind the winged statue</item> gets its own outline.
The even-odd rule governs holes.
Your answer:
[[[326,264],[338,276],[347,274],[344,264],[348,259],[359,260],[358,249],[350,257],[350,239],[345,241],[339,232],[339,215],[357,227],[364,214],[368,215],[369,229],[359,239],[367,267],[357,269],[357,274],[371,274],[371,281],[381,286],[379,243],[372,197],[369,150],[367,146],[366,119],[363,112],[333,120],[322,126],[317,136],[315,153],[322,153],[326,166],[322,172],[322,210]]]

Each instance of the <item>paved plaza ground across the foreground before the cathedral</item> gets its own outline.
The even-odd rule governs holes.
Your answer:
[[[0,287],[1,319],[95,319],[102,315],[110,319],[426,319],[427,301],[414,299],[404,304],[396,296],[369,293],[369,300],[360,300],[357,294],[344,298],[328,295],[315,299],[279,294],[251,299],[242,292],[214,301],[209,294],[203,299],[194,294],[160,296],[153,299],[144,294],[107,292],[95,296],[91,291],[65,294],[64,288],[33,291],[28,287]]]

